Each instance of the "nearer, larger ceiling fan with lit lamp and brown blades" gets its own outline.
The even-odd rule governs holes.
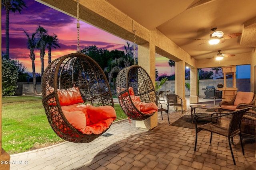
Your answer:
[[[222,31],[216,31],[217,28],[212,28],[212,34],[210,34],[210,38],[204,38],[207,39],[208,41],[204,42],[204,43],[209,43],[210,45],[215,45],[218,43],[224,43],[226,41],[226,39],[230,39],[230,38],[236,38],[239,35],[241,35],[242,33],[229,33],[224,35],[224,33]],[[202,40],[202,39],[194,39],[194,40]],[[204,43],[198,44],[198,45],[202,45]]]

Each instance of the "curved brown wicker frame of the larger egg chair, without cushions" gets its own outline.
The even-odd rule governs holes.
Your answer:
[[[47,86],[53,87],[53,92]],[[88,143],[102,133],[86,135],[75,129],[64,116],[58,99],[57,88],[73,86],[79,88],[84,104],[114,107],[110,86],[100,66],[81,53],[72,53],[52,61],[42,75],[42,103],[54,132],[66,141]]]

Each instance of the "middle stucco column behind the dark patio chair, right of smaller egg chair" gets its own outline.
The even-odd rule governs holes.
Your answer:
[[[185,62],[175,62],[175,94],[182,98],[183,110],[187,109],[187,100],[185,98]],[[181,109],[179,109],[181,110]]]

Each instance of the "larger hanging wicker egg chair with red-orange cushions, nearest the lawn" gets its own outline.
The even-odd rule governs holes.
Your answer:
[[[82,53],[64,55],[47,66],[42,75],[42,103],[54,132],[74,143],[93,141],[116,119],[103,70]]]

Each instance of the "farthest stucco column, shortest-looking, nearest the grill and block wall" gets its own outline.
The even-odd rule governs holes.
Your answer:
[[[190,96],[189,103],[198,104],[198,74],[197,68],[190,68]]]

